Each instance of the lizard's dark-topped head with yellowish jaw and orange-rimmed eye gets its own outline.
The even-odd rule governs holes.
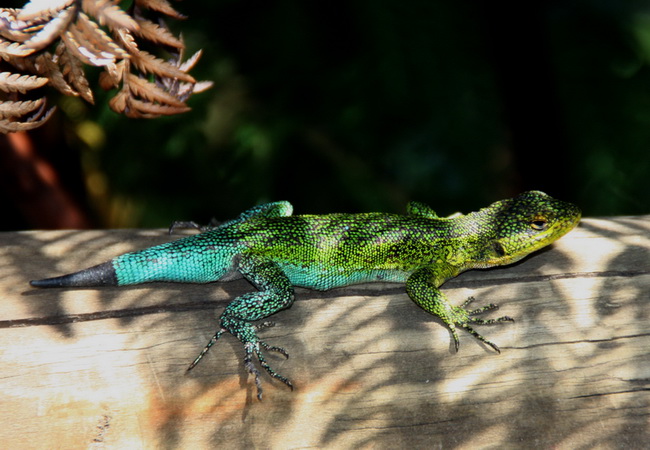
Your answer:
[[[475,267],[519,261],[571,231],[580,209],[540,191],[528,191],[478,212],[490,232],[483,235],[483,251]]]

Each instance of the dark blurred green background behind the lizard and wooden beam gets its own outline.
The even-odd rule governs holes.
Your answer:
[[[128,119],[96,88],[31,132],[93,226],[272,200],[449,214],[528,189],[650,212],[648,1],[173,3],[188,54],[203,49],[192,75],[215,83],[191,112]],[[0,195],[3,229],[38,226]]]

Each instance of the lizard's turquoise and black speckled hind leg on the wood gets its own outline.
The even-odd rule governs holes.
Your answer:
[[[221,335],[228,332],[244,344],[244,366],[250,374],[255,376],[257,398],[261,400],[262,382],[259,377],[260,373],[253,364],[254,356],[273,378],[282,381],[291,389],[293,389],[293,385],[287,378],[276,373],[262,354],[262,349],[265,349],[289,357],[283,348],[270,346],[257,336],[257,330],[272,326],[272,323],[264,322],[256,326],[252,322],[264,319],[290,307],[294,300],[293,286],[275,262],[262,256],[242,255],[239,260],[238,270],[259,289],[259,292],[249,292],[230,302],[221,315],[221,329],[208,342],[187,370],[189,371],[196,366]]]

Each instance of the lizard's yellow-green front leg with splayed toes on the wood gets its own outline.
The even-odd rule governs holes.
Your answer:
[[[434,316],[439,317],[445,325],[449,327],[449,330],[454,337],[456,351],[458,351],[459,346],[456,327],[462,327],[476,339],[484,342],[497,352],[501,353],[501,350],[499,350],[499,347],[496,344],[488,341],[477,333],[470,324],[490,325],[500,322],[514,322],[514,320],[508,316],[499,317],[497,319],[478,319],[472,317],[497,309],[498,306],[491,303],[482,308],[468,311],[465,307],[474,300],[473,297],[468,298],[461,306],[453,306],[449,303],[445,294],[438,289],[434,282],[435,279],[435,274],[431,269],[417,270],[408,278],[408,280],[406,280],[406,292],[418,306]]]

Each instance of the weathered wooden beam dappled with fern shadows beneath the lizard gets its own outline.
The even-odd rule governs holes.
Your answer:
[[[298,290],[262,335],[295,390],[222,339],[251,287],[37,290],[171,238],[160,230],[0,233],[3,448],[640,448],[650,438],[650,216],[586,219],[550,248],[444,286],[514,324],[461,331],[460,352],[402,285]]]

